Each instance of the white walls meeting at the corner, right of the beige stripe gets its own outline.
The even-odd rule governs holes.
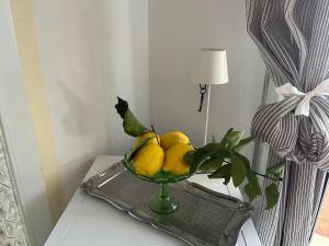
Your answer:
[[[230,83],[212,90],[209,134],[249,130],[263,65],[243,0],[34,0],[34,12],[66,201],[95,155],[129,148],[116,95],[146,125],[150,113],[159,132],[181,129],[202,143],[204,112],[191,83],[201,47],[228,52]]]

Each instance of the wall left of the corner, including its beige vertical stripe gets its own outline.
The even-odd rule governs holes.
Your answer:
[[[114,109],[116,95],[149,122],[147,7],[147,0],[13,1],[55,220],[93,159],[131,144]]]

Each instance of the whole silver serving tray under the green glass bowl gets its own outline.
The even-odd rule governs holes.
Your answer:
[[[157,214],[149,209],[148,201],[158,192],[159,185],[136,178],[121,163],[91,177],[81,187],[131,216],[194,246],[235,246],[252,211],[249,203],[234,197],[181,181],[170,185],[180,208],[168,215]]]

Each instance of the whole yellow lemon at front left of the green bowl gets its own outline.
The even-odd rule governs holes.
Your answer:
[[[164,152],[158,144],[149,143],[143,147],[133,160],[136,173],[150,177],[161,169]]]

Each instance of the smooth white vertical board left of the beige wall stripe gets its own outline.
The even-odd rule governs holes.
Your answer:
[[[42,246],[53,229],[52,214],[47,203],[33,124],[29,114],[10,0],[0,0],[0,121],[9,151],[9,164],[11,165],[9,168],[12,171],[10,176],[13,175],[10,178],[14,185],[14,195],[19,207],[24,213],[30,242],[32,245]],[[4,176],[2,172],[4,172]],[[0,173],[1,181],[5,184],[3,183],[5,181],[5,171],[1,169]],[[1,194],[3,195],[3,188],[1,188]],[[5,196],[4,192],[4,198],[7,198]],[[3,196],[0,199],[2,198]],[[4,202],[1,200],[1,209],[5,209]],[[12,212],[10,211],[11,214],[13,214]],[[5,214],[5,211],[3,213]],[[20,214],[15,214],[15,216],[19,221]],[[1,215],[1,219],[4,218],[5,215]],[[4,224],[2,223],[1,226]],[[11,227],[9,226],[7,230],[11,231]],[[20,236],[22,227],[13,230],[11,233]],[[11,233],[10,235],[12,235]]]

